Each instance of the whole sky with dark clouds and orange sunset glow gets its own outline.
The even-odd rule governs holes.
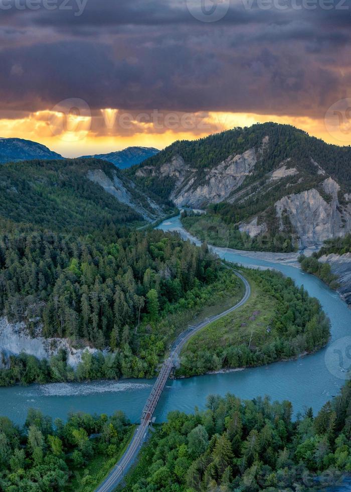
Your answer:
[[[277,121],[351,144],[344,0],[0,0],[0,137],[65,157]]]

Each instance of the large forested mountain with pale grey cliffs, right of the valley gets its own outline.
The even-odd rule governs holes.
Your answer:
[[[126,173],[160,201],[206,208],[188,222],[232,227],[238,249],[292,251],[351,230],[350,163],[351,147],[267,123],[174,142]]]

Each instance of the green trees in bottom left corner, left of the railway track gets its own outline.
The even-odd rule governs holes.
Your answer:
[[[66,423],[28,412],[25,426],[0,417],[0,490],[92,492],[123,452],[134,427],[111,417],[71,414]]]

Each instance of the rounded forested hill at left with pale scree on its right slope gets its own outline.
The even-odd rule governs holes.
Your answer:
[[[111,163],[97,159],[32,160],[0,166],[0,218],[77,234],[134,221],[162,210]]]

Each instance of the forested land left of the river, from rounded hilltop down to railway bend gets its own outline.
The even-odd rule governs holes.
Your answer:
[[[135,230],[135,225],[163,213],[164,208],[102,160],[33,160],[0,167],[4,360],[18,353],[14,340],[19,331],[22,338],[30,338],[28,343],[36,340],[29,353],[39,358],[46,352],[43,339],[58,347],[62,341],[70,351],[111,347],[112,377],[153,375],[164,349],[162,336],[157,330],[157,336],[148,332],[150,342],[135,344],[140,318],[148,315],[153,322],[178,302],[184,310],[188,295],[194,306],[205,299],[218,270],[207,248],[200,250],[161,231]],[[59,365],[64,360],[59,358]],[[36,363],[29,363],[32,369],[24,372],[32,374],[31,380]]]

